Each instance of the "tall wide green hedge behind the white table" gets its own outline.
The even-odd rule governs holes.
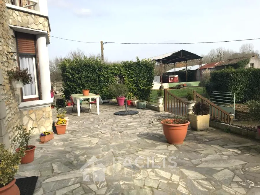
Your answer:
[[[111,97],[108,86],[120,81],[128,90],[128,98],[137,97],[147,100],[153,87],[155,63],[151,60],[125,61],[121,64],[104,64],[98,58],[83,57],[64,59],[59,68],[62,72],[62,92],[66,99],[71,94],[82,93],[89,89],[102,97]]]

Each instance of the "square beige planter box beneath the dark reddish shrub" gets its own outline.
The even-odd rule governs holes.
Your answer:
[[[190,127],[196,131],[201,131],[209,128],[209,114],[194,115],[189,114]]]

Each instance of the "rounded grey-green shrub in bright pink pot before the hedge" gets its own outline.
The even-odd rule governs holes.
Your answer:
[[[125,102],[125,96],[128,93],[127,86],[121,83],[114,83],[108,87],[111,96],[116,97],[116,101],[119,106],[123,106]]]

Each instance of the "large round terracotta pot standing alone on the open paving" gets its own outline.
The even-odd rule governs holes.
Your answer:
[[[164,135],[167,142],[169,142],[170,144],[182,144],[187,135],[188,125],[190,124],[190,122],[185,120],[187,121],[187,123],[185,124],[173,125],[164,123],[165,120],[162,120],[161,124],[163,125]]]

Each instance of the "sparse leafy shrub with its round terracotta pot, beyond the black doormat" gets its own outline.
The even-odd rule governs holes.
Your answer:
[[[17,135],[13,137],[12,141],[14,144],[19,144],[19,148],[16,148],[15,151],[19,152],[23,149],[25,153],[25,156],[21,159],[21,164],[27,164],[34,161],[34,150],[36,146],[29,145],[34,128],[35,127],[32,127],[27,131],[23,125],[15,127],[15,132],[17,132]]]

